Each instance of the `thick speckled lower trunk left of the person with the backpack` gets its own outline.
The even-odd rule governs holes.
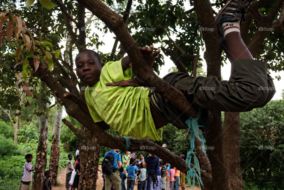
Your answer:
[[[97,186],[100,145],[90,130],[83,126],[81,130],[83,145],[80,150],[79,190],[93,190]]]

